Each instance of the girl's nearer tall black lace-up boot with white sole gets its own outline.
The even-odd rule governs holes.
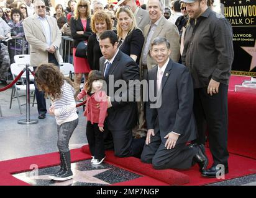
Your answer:
[[[68,179],[72,179],[73,173],[71,171],[70,152],[60,152],[60,156],[62,157],[63,170],[60,173],[58,173],[58,175],[55,176],[53,180],[66,181]]]

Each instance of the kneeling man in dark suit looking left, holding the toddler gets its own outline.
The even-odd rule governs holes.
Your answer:
[[[119,51],[117,41],[116,33],[111,30],[99,37],[103,54],[99,59],[99,69],[105,76],[107,95],[110,97],[107,126],[113,137],[117,157],[140,157],[145,139],[132,139],[132,128],[137,123],[137,105],[135,93],[128,86],[129,80],[137,80],[140,87],[139,67],[130,56]],[[117,80],[124,86],[114,87]],[[121,89],[122,92],[119,92]]]

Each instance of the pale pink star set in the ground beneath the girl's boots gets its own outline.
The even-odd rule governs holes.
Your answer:
[[[94,176],[99,173],[103,173],[107,170],[110,170],[111,168],[106,168],[106,169],[101,169],[101,170],[89,170],[89,171],[79,171],[79,170],[74,170],[73,171],[73,179],[69,179],[66,181],[56,181],[56,182],[50,182],[51,186],[69,186],[71,184],[75,184],[76,182],[80,183],[91,183],[91,184],[105,184],[105,185],[110,185],[109,183],[95,178]],[[37,179],[42,179],[42,180],[52,180],[49,178],[51,174],[42,174],[38,176],[30,176],[25,179],[25,182],[30,183],[30,184],[36,184]]]

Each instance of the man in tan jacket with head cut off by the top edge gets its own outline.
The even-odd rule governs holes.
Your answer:
[[[119,0],[116,4],[117,6],[129,6],[134,13],[137,26],[140,30],[144,30],[144,27],[149,24],[149,12],[145,11],[141,7],[137,6],[136,0]]]

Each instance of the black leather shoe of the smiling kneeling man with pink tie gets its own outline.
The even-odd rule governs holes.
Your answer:
[[[193,157],[193,164],[198,163],[199,171],[202,172],[203,170],[206,170],[208,166],[208,158],[205,154],[205,149],[203,144],[197,145],[196,149],[198,149],[198,152]]]

